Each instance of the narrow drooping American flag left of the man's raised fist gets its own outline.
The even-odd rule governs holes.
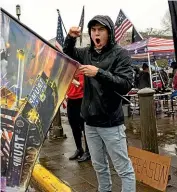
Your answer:
[[[57,36],[56,36],[55,46],[60,51],[62,51],[63,44],[64,44],[64,36],[63,36],[62,20],[61,20],[61,15],[58,11]]]

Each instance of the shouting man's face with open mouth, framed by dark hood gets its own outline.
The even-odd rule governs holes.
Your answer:
[[[97,49],[102,49],[108,42],[108,30],[101,24],[91,27],[91,38]]]

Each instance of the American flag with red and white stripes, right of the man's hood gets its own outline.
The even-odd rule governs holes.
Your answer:
[[[120,42],[123,34],[132,26],[131,21],[125,16],[123,11],[120,9],[116,23],[115,23],[115,40]]]

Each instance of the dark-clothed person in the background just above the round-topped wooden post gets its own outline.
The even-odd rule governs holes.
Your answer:
[[[143,89],[145,87],[151,87],[149,66],[146,63],[143,63],[142,69],[143,71],[140,72],[139,77],[139,86],[138,86],[139,89]]]

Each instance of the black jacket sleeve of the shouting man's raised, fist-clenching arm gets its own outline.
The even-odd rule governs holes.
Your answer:
[[[85,48],[76,48],[75,44],[76,44],[76,38],[67,35],[63,46],[63,52],[72,59],[83,64]]]

